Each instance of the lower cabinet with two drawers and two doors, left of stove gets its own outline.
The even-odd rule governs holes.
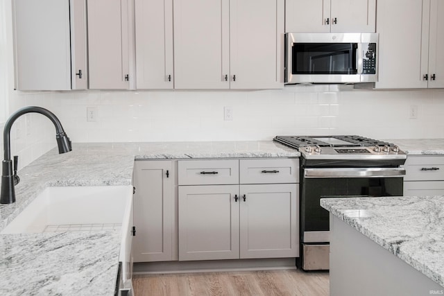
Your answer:
[[[193,171],[194,166],[211,167],[211,174],[199,169],[195,173],[196,177],[212,178],[214,182],[187,185],[181,177],[193,179],[178,174],[179,261],[299,256],[298,159],[237,162],[241,167],[240,180],[248,180],[243,171],[259,170],[274,183],[278,183],[279,174],[285,181],[239,184],[238,180],[237,184],[219,184],[219,171],[228,167],[226,160],[179,161],[179,172]],[[236,167],[230,164],[231,170]],[[257,180],[266,183],[266,177]]]

